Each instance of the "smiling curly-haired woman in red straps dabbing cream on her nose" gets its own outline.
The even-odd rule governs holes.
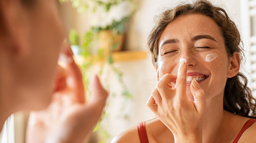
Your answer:
[[[147,106],[158,118],[112,142],[255,142],[255,99],[239,72],[241,42],[224,9],[209,1],[162,12],[148,39],[159,82]]]

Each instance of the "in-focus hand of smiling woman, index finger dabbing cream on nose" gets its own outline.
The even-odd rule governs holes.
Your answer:
[[[196,80],[190,85],[194,102],[186,96],[187,65],[181,62],[178,77],[165,74],[147,101],[147,106],[172,131],[175,142],[202,142],[205,93]],[[170,82],[175,82],[172,89]]]

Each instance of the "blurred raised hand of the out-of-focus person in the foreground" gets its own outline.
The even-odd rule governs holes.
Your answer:
[[[81,143],[101,116],[108,93],[97,76],[91,82],[91,99],[85,103],[83,77],[71,49],[65,68],[59,68],[53,100],[49,107],[30,114],[27,143]]]

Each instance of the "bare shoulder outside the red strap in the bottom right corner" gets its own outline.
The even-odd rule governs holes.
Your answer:
[[[241,135],[238,143],[255,143],[256,141],[256,122],[254,122],[245,132]]]

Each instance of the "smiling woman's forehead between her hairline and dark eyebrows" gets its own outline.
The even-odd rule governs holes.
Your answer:
[[[166,26],[158,45],[165,40],[192,40],[197,35],[208,35],[218,43],[224,44],[221,28],[210,17],[202,14],[187,14],[177,17]]]

